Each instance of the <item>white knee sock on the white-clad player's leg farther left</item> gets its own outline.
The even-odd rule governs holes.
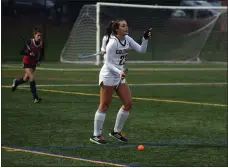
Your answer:
[[[94,132],[93,136],[100,136],[102,134],[103,124],[106,117],[106,113],[96,111],[94,117]]]

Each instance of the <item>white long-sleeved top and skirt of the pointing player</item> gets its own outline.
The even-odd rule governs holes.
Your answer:
[[[142,44],[139,45],[128,35],[126,35],[123,40],[119,40],[115,36],[111,36],[107,46],[103,45],[103,41],[102,50],[106,53],[104,55],[104,65],[100,71],[99,83],[103,81],[107,86],[117,85],[120,80],[120,72],[124,70],[124,64],[128,56],[128,51],[133,49],[137,52],[145,53],[147,43],[148,40],[143,38]]]

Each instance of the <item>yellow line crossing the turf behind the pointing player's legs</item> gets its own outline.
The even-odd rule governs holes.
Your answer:
[[[3,85],[3,88],[10,88],[10,86]],[[25,89],[25,88],[20,88]],[[83,96],[100,96],[94,93],[83,93],[83,92],[69,92],[62,90],[52,90],[52,89],[38,89],[43,92],[52,93],[62,93],[62,94],[72,94],[72,95],[83,95]],[[118,96],[113,96],[118,98]],[[143,101],[154,101],[154,102],[167,102],[167,103],[180,103],[180,104],[192,104],[192,105],[203,105],[203,106],[214,106],[214,107],[228,107],[227,104],[214,104],[214,103],[204,103],[204,102],[190,102],[190,101],[180,101],[180,100],[168,100],[168,99],[156,99],[156,98],[143,98],[143,97],[132,97],[133,100],[143,100]]]

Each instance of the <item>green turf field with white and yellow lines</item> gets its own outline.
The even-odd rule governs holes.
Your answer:
[[[40,104],[28,84],[11,92],[19,67],[2,65],[2,166],[228,166],[225,65],[130,65],[129,143],[108,136],[121,106],[113,95],[105,146],[89,141],[99,67],[44,63],[36,72]]]

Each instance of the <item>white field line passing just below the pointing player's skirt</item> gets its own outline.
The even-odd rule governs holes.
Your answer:
[[[227,85],[225,82],[214,82],[214,83],[142,83],[142,84],[128,84],[133,87],[140,86],[224,86]],[[37,87],[98,87],[98,84],[47,84],[47,85],[36,85]],[[10,85],[7,87],[11,87]],[[29,88],[29,85],[20,85],[21,88]]]

